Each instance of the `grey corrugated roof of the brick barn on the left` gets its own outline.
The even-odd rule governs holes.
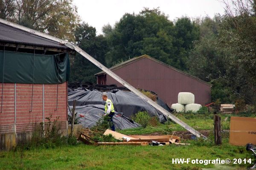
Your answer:
[[[53,48],[68,48],[65,45],[61,45],[59,42],[39,37],[27,31],[14,28],[12,26],[7,26],[3,23],[0,23],[0,42],[36,45]]]

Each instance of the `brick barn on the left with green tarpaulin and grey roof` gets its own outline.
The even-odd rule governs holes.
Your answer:
[[[58,118],[67,133],[70,48],[0,23],[0,150]]]

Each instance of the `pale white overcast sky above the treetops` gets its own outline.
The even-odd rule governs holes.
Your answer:
[[[213,17],[224,13],[220,0],[74,0],[81,19],[102,34],[102,26],[114,26],[125,13],[138,14],[143,7],[157,8],[169,15],[169,20],[177,17]]]

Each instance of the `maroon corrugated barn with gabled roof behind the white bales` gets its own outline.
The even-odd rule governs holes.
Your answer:
[[[195,103],[201,105],[211,101],[211,84],[148,55],[129,59],[110,69],[135,88],[154,91],[169,106],[177,103],[179,92],[195,94]],[[100,85],[122,86],[104,71],[95,75]]]

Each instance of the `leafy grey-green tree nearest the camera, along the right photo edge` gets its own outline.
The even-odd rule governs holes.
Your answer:
[[[230,51],[227,81],[237,99],[256,105],[256,1],[237,0],[232,7],[224,2],[219,45]]]

